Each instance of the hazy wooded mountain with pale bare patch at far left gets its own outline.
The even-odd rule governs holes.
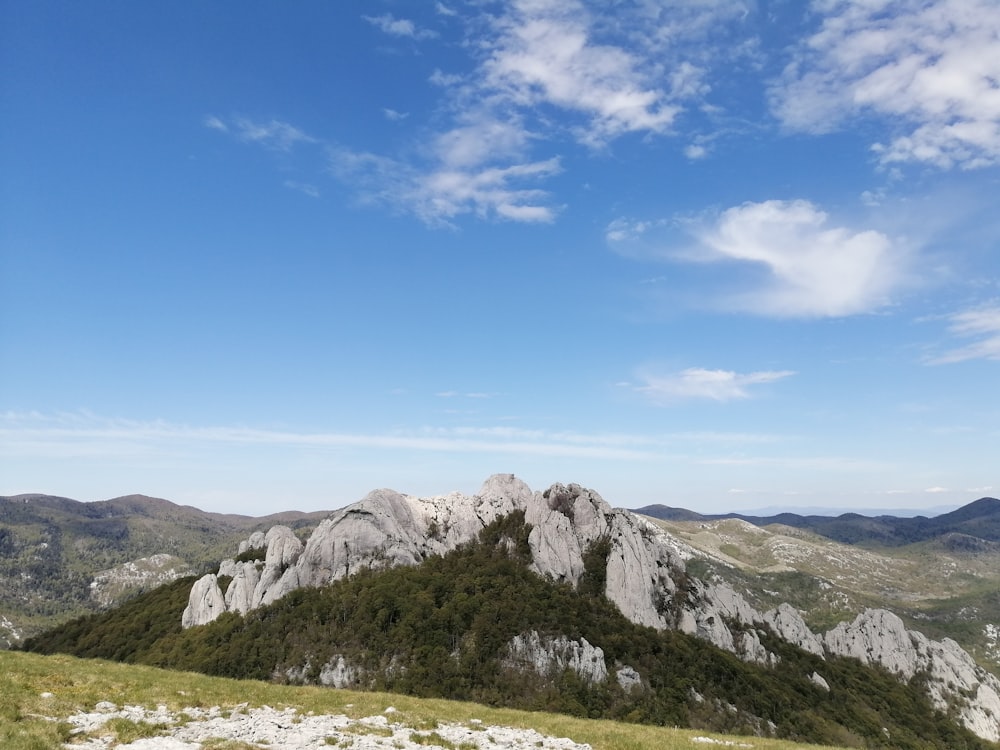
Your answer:
[[[0,497],[0,646],[200,571],[256,529],[304,530],[325,515],[223,515],[144,495]]]

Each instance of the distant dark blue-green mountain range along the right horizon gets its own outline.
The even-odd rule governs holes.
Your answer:
[[[958,510],[928,518],[926,516],[865,516],[844,513],[839,516],[799,515],[779,513],[773,516],[753,516],[741,513],[703,515],[685,508],[647,505],[633,512],[665,521],[718,521],[739,518],[754,526],[782,524],[811,531],[844,544],[900,547],[916,542],[951,537],[956,545],[972,544],[974,540],[1000,542],[1000,500],[983,497]]]

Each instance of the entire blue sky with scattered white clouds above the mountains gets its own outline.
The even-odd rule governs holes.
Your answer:
[[[1000,492],[994,0],[0,0],[0,494]]]

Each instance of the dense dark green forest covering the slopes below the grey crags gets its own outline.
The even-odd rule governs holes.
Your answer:
[[[605,543],[588,551],[573,589],[529,570],[529,531],[512,514],[478,542],[420,566],[362,571],[185,631],[191,582],[179,582],[26,647],[279,681],[316,681],[342,655],[361,669],[360,688],[858,747],[989,746],[935,712],[918,684],[857,661],[824,661],[764,632],[780,663],[762,668],[682,633],[635,625],[599,593]],[[600,646],[611,678],[592,685],[572,671],[514,670],[506,646],[531,630]],[[620,665],[636,669],[643,687],[623,689],[613,676]],[[813,672],[829,692],[810,681]]]

